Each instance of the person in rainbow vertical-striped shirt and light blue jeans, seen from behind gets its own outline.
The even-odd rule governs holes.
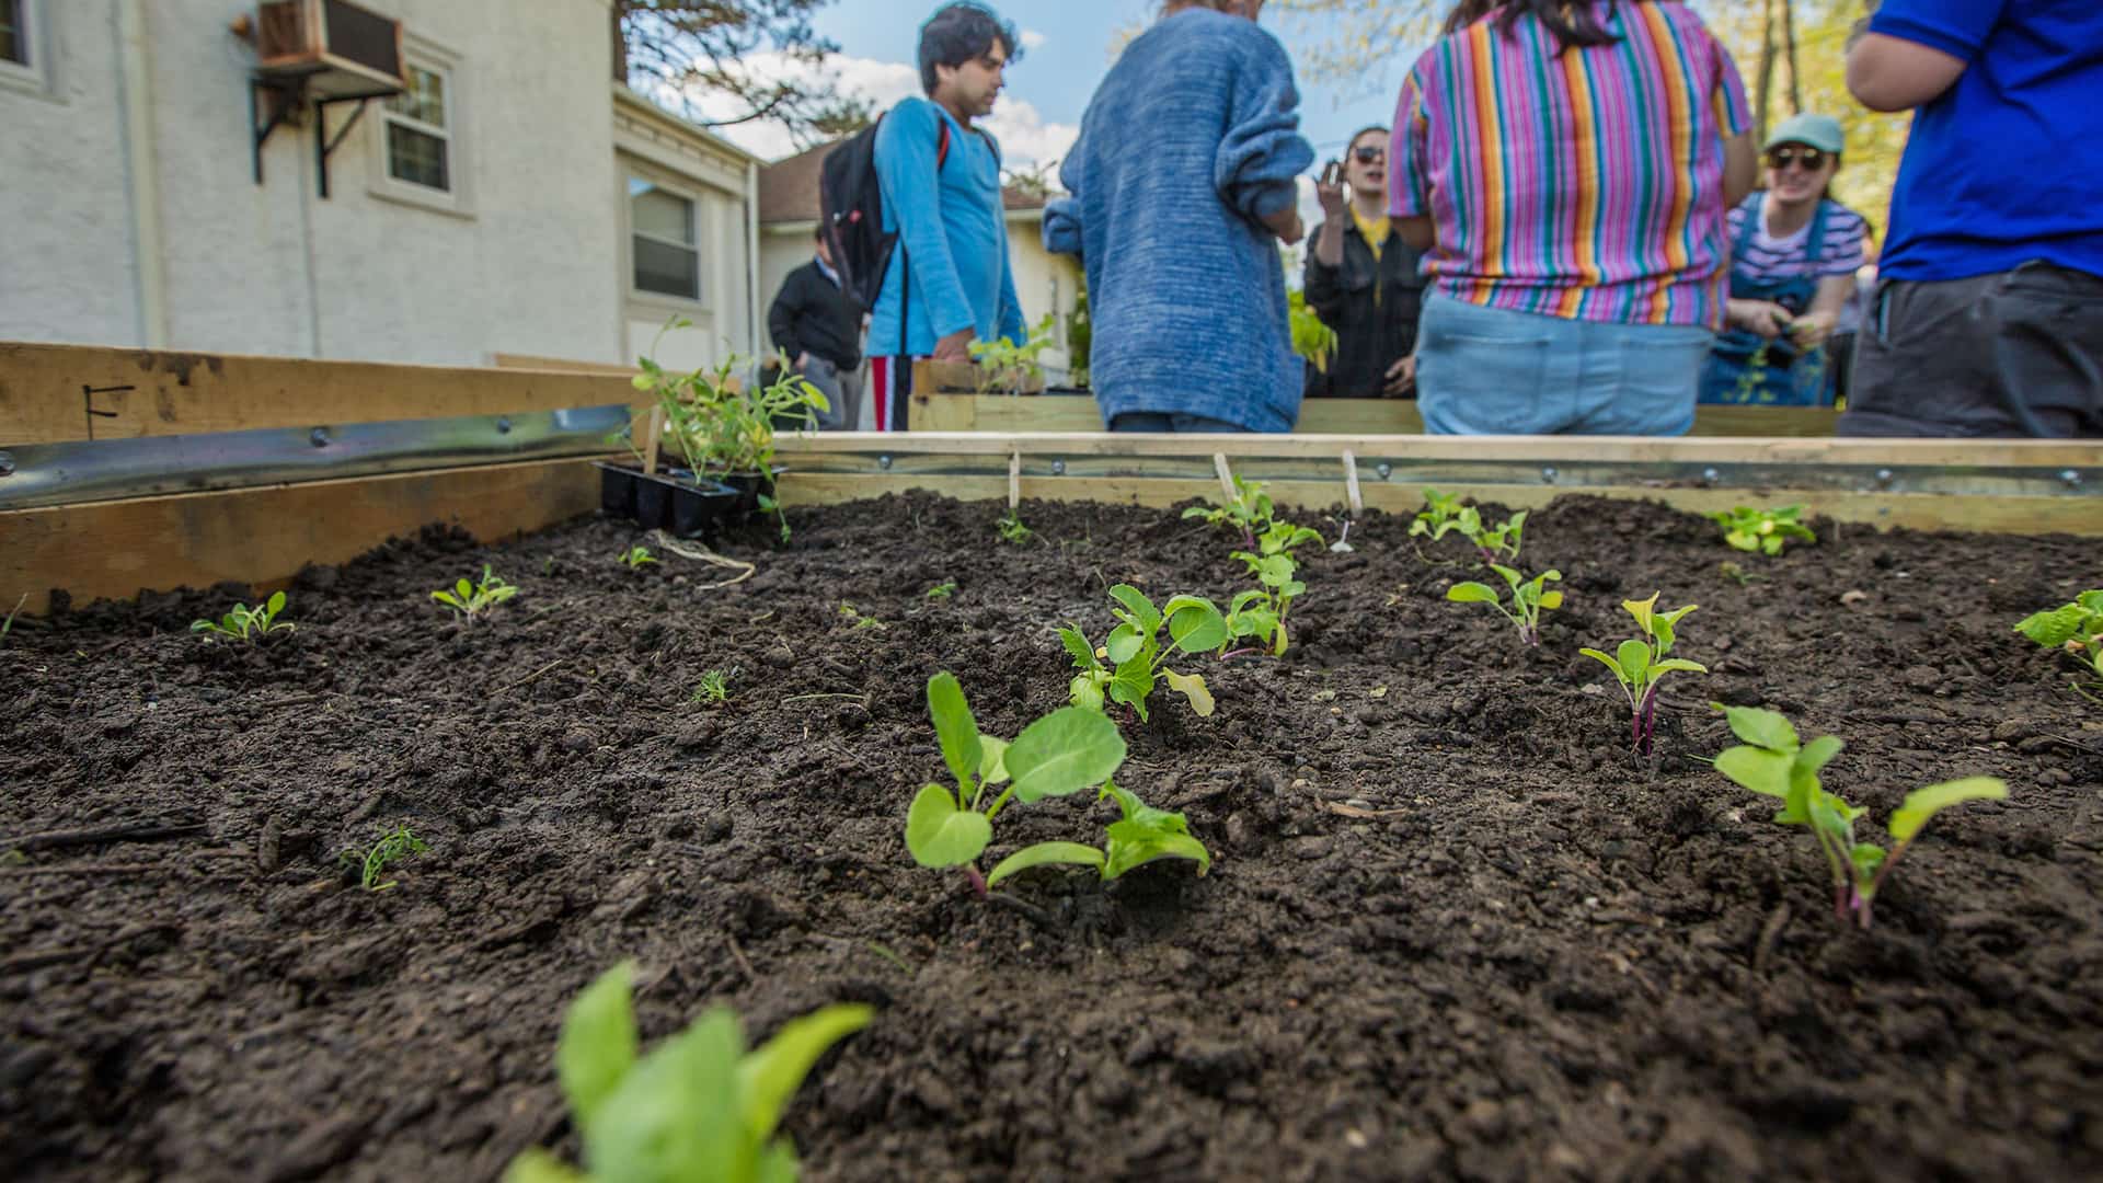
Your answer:
[[[1687,434],[1750,126],[1737,65],[1685,4],[1462,0],[1388,152],[1390,215],[1432,282],[1426,429]]]

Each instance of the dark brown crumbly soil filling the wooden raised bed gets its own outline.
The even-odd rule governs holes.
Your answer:
[[[196,829],[0,867],[6,1175],[574,1151],[555,1031],[620,958],[648,1038],[711,1002],[755,1036],[879,1006],[791,1109],[810,1179],[2103,1175],[2103,724],[2008,627],[2103,581],[2092,543],[1821,524],[1737,585],[1706,522],[1565,499],[1527,566],[1569,606],[1525,650],[1443,600],[1457,543],[1375,514],[1310,560],[1285,661],[1207,669],[1209,720],[1127,726],[1119,781],[1186,810],[1213,871],[1030,871],[1030,916],[904,850],[942,768],[927,676],[1014,735],[1064,697],[1054,625],[1100,636],[1110,583],[1224,602],[1241,575],[1173,514],[1026,503],[1009,547],[999,512],[803,512],[719,592],[614,564],[606,522],[425,537],[309,573],[259,653],[185,631],[231,589],[17,627],[0,834]],[[454,625],[429,592],[482,562],[524,592]],[[1701,604],[1680,653],[1714,669],[1668,684],[1655,766],[1577,655],[1653,589]],[[690,703],[711,667],[726,707]],[[1718,697],[1842,735],[1828,787],[1876,819],[1960,775],[2013,796],[1937,819],[1876,930],[1844,928],[1809,836],[1691,758],[1729,743]],[[1108,808],[1012,810],[993,855]],[[339,850],[402,823],[431,850],[400,886],[347,884]]]

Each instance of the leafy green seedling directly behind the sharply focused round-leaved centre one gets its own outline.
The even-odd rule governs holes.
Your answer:
[[[1110,598],[1119,604],[1110,610],[1117,627],[1100,648],[1089,644],[1077,625],[1058,629],[1060,642],[1081,669],[1066,684],[1068,701],[1100,711],[1108,699],[1131,707],[1140,722],[1146,722],[1146,697],[1155,693],[1155,682],[1167,682],[1171,690],[1190,699],[1192,711],[1209,716],[1211,690],[1205,688],[1205,678],[1178,674],[1167,663],[1178,653],[1197,655],[1226,642],[1228,625],[1220,608],[1201,596],[1176,596],[1155,608],[1155,602],[1129,583],[1110,587]],[[1163,629],[1167,644],[1161,644]]]

